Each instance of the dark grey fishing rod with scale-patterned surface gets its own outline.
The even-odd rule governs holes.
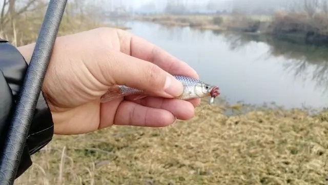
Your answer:
[[[13,184],[67,0],[50,0],[0,158],[0,184]]]

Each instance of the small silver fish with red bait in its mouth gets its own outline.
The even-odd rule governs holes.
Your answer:
[[[195,78],[191,78],[188,76],[181,76],[181,75],[173,75],[176,79],[178,79],[183,85],[183,93],[175,97],[177,99],[193,99],[193,98],[203,98],[207,96],[211,96],[209,100],[209,104],[211,105],[214,101],[214,98],[220,95],[219,88],[217,86],[212,86],[208,83],[204,83],[203,81]],[[109,89],[109,91],[104,94],[100,102],[107,102],[111,101],[112,99],[128,96],[128,95],[140,95],[135,99],[141,99],[146,97],[147,95],[144,94],[143,91],[118,85]]]

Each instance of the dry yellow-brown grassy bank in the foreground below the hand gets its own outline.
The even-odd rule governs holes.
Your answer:
[[[325,184],[328,113],[205,107],[167,128],[56,136],[16,184]],[[197,108],[201,110],[201,107]]]

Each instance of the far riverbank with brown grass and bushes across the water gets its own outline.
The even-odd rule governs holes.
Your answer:
[[[270,34],[275,37],[298,40],[303,44],[328,45],[328,11],[285,12],[272,16],[226,15],[137,15],[135,19],[167,26],[188,26],[194,29],[237,31]]]

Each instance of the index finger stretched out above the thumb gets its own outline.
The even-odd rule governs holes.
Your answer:
[[[170,74],[185,75],[199,78],[197,72],[187,63],[179,60],[167,51],[148,42],[144,38],[127,31],[118,31],[120,37],[120,51],[142,60],[150,61]]]

